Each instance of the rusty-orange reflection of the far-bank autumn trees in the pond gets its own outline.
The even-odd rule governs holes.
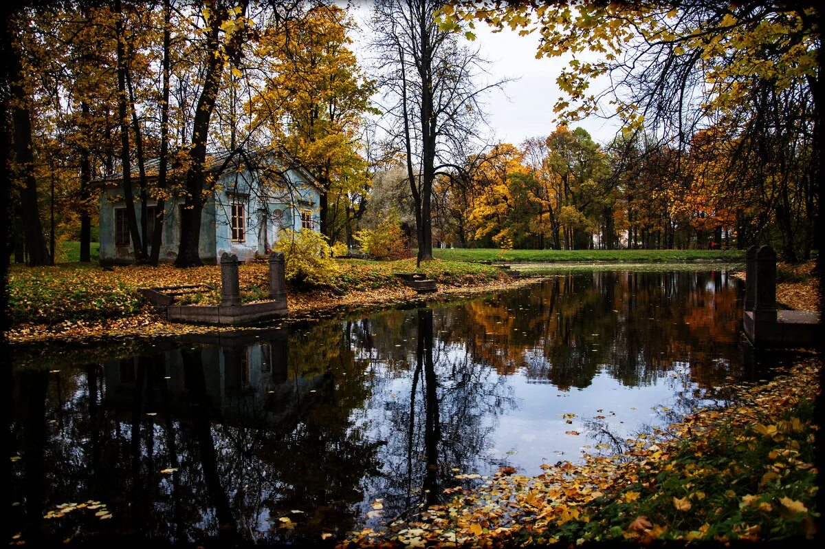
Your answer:
[[[709,388],[736,356],[736,292],[720,272],[592,272],[555,277],[539,291],[470,301],[457,315],[475,361],[519,370],[561,389],[586,387],[604,371],[627,386],[673,365]]]

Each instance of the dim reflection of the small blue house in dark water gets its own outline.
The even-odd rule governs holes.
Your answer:
[[[332,385],[331,378],[290,375],[285,335],[280,330],[269,334],[252,338],[255,343],[239,338],[199,346],[195,360],[171,349],[106,362],[105,403],[131,411],[137,400],[145,412],[187,419],[204,413],[196,405],[205,401],[219,423],[243,421],[290,430]]]

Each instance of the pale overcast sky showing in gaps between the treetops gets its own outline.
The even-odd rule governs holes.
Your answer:
[[[351,9],[359,25],[356,54],[361,64],[369,66],[369,52],[365,45],[370,41],[369,26],[371,2],[357,2]],[[490,81],[516,78],[506,83],[502,90],[493,90],[486,97],[488,122],[497,141],[519,144],[528,137],[549,135],[556,127],[553,106],[560,92],[556,84],[559,69],[568,58],[535,59],[539,43],[533,35],[519,36],[517,32],[504,30],[493,33],[486,25],[474,30],[474,43],[481,49],[484,59],[490,61]],[[591,83],[592,92],[600,91],[599,82]],[[574,124],[590,132],[593,140],[606,144],[613,139],[618,125],[614,121],[591,118]]]

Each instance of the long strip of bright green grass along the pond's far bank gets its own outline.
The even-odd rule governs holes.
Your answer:
[[[674,263],[680,261],[725,261],[742,262],[743,250],[711,251],[705,249],[685,250],[549,250],[549,249],[493,249],[493,248],[436,248],[432,251],[435,258],[450,261],[507,261],[507,262],[544,262],[544,261],[579,261],[579,262],[613,262],[613,263]]]

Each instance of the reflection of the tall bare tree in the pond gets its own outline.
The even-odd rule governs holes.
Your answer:
[[[414,347],[402,345],[404,357],[387,366],[395,381],[376,387],[373,395],[385,407],[386,419],[380,423],[392,426],[380,433],[386,440],[381,452],[384,467],[373,489],[384,497],[386,518],[417,504],[436,503],[441,491],[455,484],[454,469],[483,468],[495,419],[514,406],[506,378],[472,361],[462,345],[450,343],[449,335],[436,337],[457,328],[449,310],[438,312],[436,318],[433,310],[420,309],[404,315],[400,324],[398,319],[383,324],[380,316],[366,331],[380,355],[384,346],[389,355],[398,353],[397,343],[391,343],[398,339],[384,335],[399,325],[406,325],[402,334],[415,341]],[[414,357],[408,360],[411,347]]]

